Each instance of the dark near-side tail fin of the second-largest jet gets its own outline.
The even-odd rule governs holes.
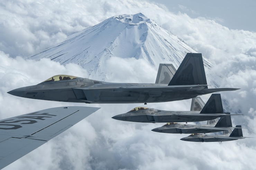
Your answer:
[[[220,94],[212,94],[200,113],[223,113]]]

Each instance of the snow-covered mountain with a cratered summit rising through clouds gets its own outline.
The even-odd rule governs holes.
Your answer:
[[[97,80],[105,80],[109,70],[104,66],[111,57],[144,59],[154,69],[159,63],[172,63],[177,69],[188,52],[197,53],[182,39],[138,13],[111,17],[28,58],[76,63],[88,70],[90,78],[97,75]],[[218,87],[218,76],[210,72],[213,64],[206,58],[204,67],[208,83]]]

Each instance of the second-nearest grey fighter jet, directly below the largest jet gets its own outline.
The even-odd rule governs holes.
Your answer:
[[[238,115],[238,114],[235,114]],[[146,107],[136,107],[127,113],[112,117],[113,119],[131,122],[198,122],[218,117],[230,116],[224,113],[220,94],[212,94],[200,111],[165,111]]]

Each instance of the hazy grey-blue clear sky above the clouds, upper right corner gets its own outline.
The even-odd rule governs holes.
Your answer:
[[[256,32],[256,24],[252,22],[256,16],[254,0],[204,1],[204,0],[148,0],[164,4],[170,12],[186,13],[191,18],[204,17],[214,20],[229,29]]]

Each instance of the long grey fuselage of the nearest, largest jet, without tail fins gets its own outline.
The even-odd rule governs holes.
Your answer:
[[[167,86],[167,84],[154,83],[110,83],[75,77],[69,80],[48,80],[8,93],[25,98],[64,102],[150,103],[190,99],[214,91],[237,90],[208,89],[206,87],[206,85]]]

